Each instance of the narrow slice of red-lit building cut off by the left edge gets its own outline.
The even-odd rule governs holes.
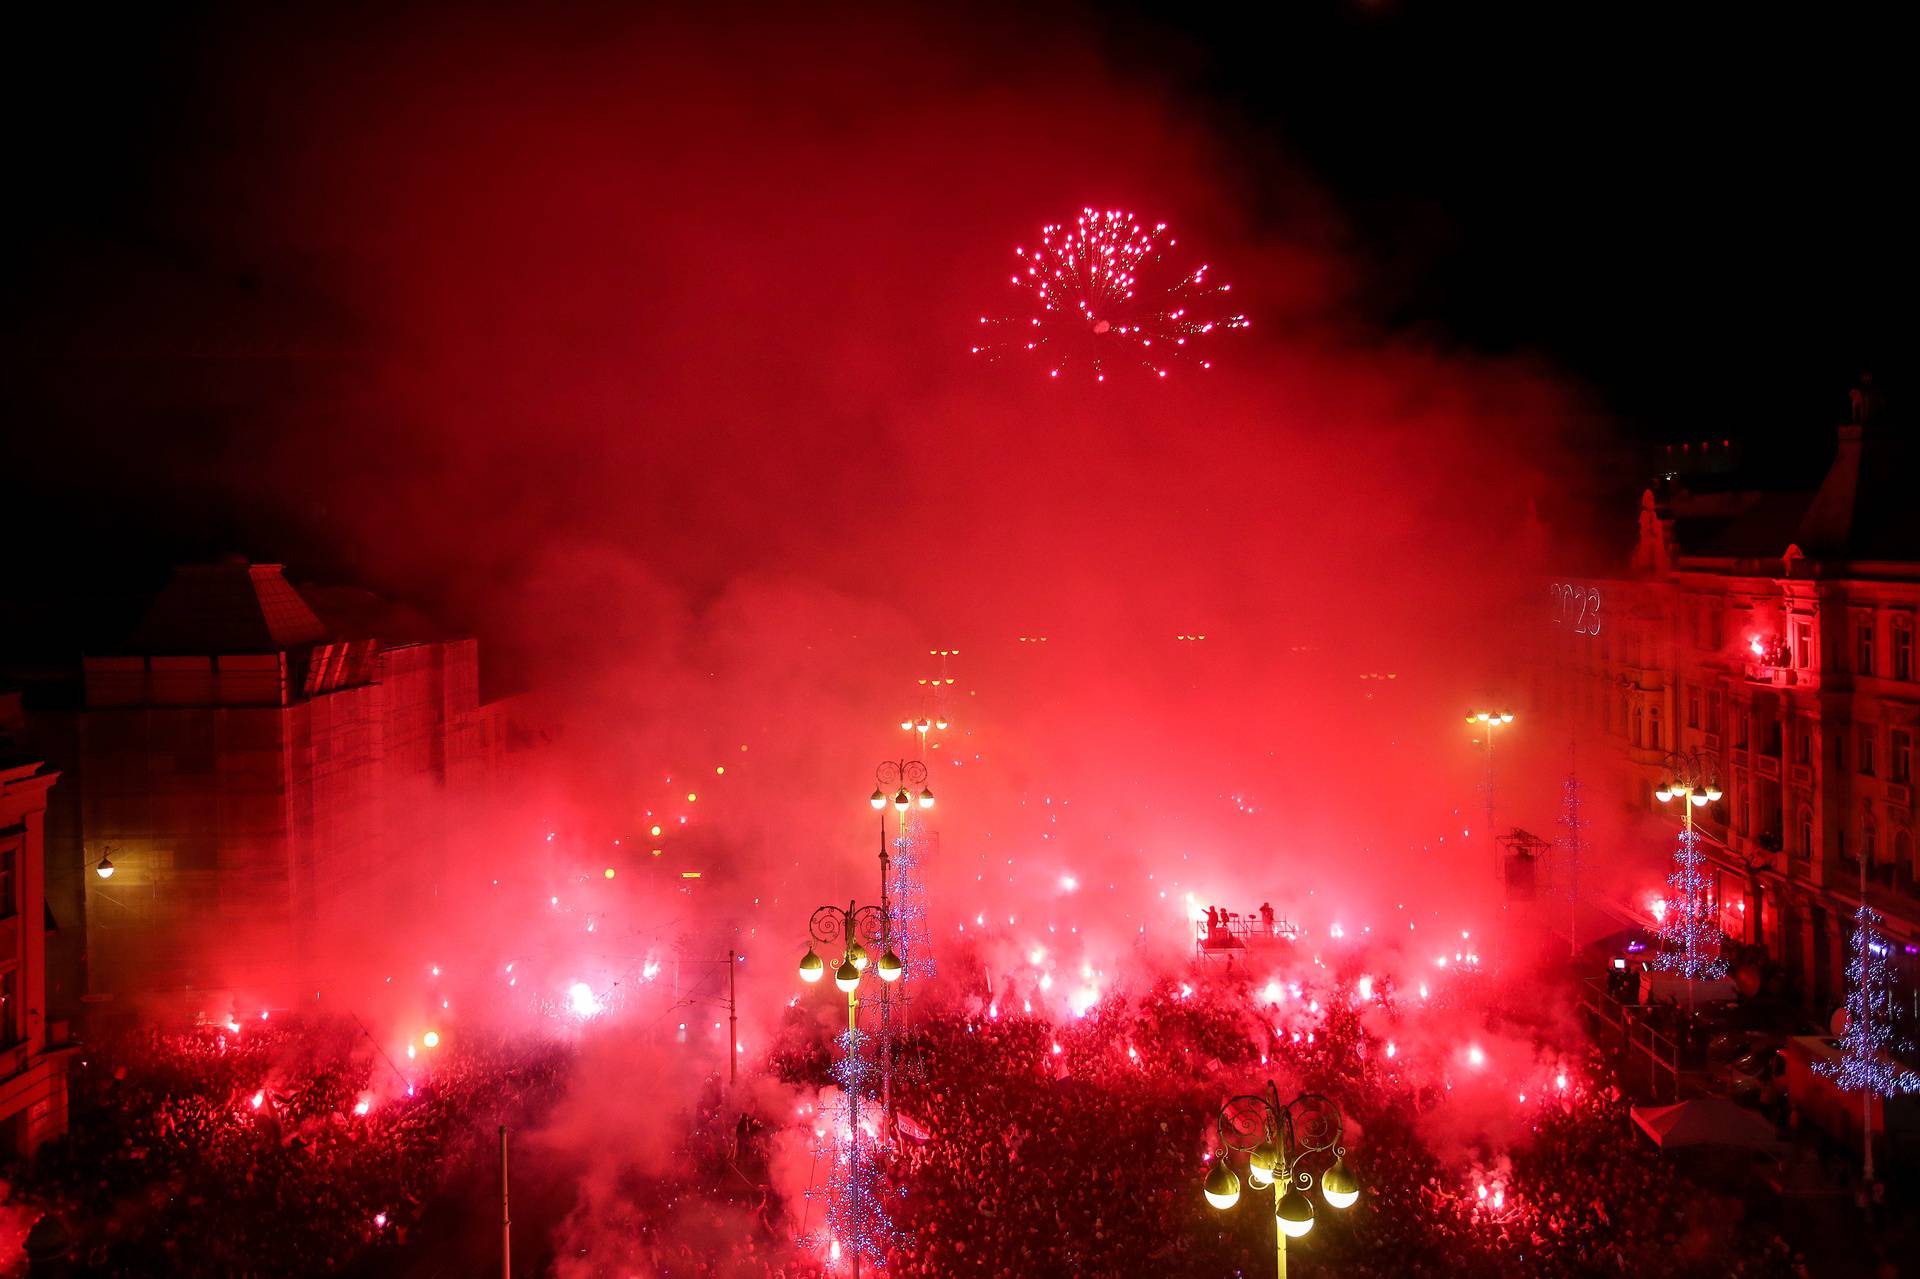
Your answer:
[[[67,1024],[46,1001],[46,795],[60,774],[21,759],[19,699],[0,701],[0,1145],[31,1154],[67,1131]]]

